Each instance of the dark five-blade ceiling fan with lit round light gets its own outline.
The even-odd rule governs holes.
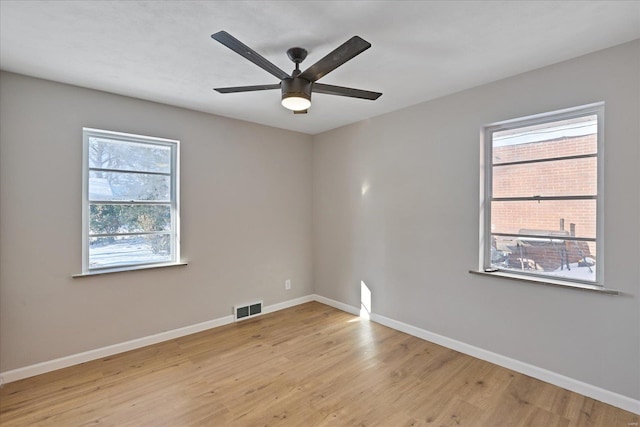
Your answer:
[[[316,83],[321,77],[371,47],[371,43],[358,36],[350,38],[304,71],[300,71],[300,63],[307,57],[307,51],[301,47],[292,47],[287,50],[287,56],[296,64],[296,68],[291,75],[282,71],[226,31],[212,34],[211,38],[280,79],[278,84],[215,88],[214,90],[219,93],[281,89],[282,105],[289,110],[293,110],[294,114],[307,113],[308,108],[311,106],[311,92],[369,100],[376,100],[382,95],[380,92]]]

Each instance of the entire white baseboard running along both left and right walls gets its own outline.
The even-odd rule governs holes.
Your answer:
[[[310,301],[318,301],[322,304],[337,308],[338,310],[345,311],[347,313],[358,316],[360,310],[357,307],[342,303],[340,301],[332,300],[330,298],[323,297],[321,295],[313,294],[300,298],[284,301],[281,303],[273,304],[263,308],[263,313],[273,313],[274,311],[283,310],[285,308],[293,307],[299,304],[304,304]],[[451,338],[447,338],[443,335],[439,335],[425,329],[418,328],[416,326],[409,325],[397,320],[390,319],[388,317],[381,316],[379,314],[371,313],[371,320],[380,323],[381,325],[398,330],[400,332],[413,335],[417,338],[433,342],[443,347],[450,348],[452,350],[459,351],[469,356],[476,357],[478,359],[486,360],[487,362],[494,363],[499,366],[503,366],[507,369],[520,372],[533,378],[548,382],[558,387],[565,388],[567,390],[574,391],[584,396],[599,400],[604,403],[622,408],[626,411],[640,414],[640,400],[636,400],[621,394],[602,389],[600,387],[593,386],[591,384],[584,383],[582,381],[575,380],[573,378],[566,377],[564,375],[548,371],[543,368],[539,368],[534,365],[530,365],[519,360],[515,360],[506,356],[502,356],[497,353],[493,353],[488,350],[484,350],[479,347],[475,347],[470,344],[466,344],[461,341],[457,341]],[[207,329],[215,328],[222,325],[233,323],[233,316],[224,316],[218,319],[209,320],[195,325],[186,326],[184,328],[178,328],[171,331],[161,332],[155,335],[149,335],[147,337],[126,341],[119,344],[110,345],[107,347],[98,348],[95,350],[85,351],[83,353],[74,354],[71,356],[61,357],[42,363],[37,363],[31,366],[25,366],[24,368],[18,368],[11,371],[0,373],[0,385],[3,383],[9,383],[23,378],[32,377],[35,375],[43,374],[46,372],[55,371],[57,369],[66,368],[80,363],[89,362],[91,360],[102,359],[104,357],[112,356],[114,354],[123,353],[129,350],[135,350],[137,348],[145,347],[151,344],[157,344],[159,342],[168,341],[174,338],[179,338],[185,335],[194,334],[197,332],[205,331]]]

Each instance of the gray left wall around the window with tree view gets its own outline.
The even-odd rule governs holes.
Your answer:
[[[310,136],[5,72],[0,94],[0,371],[313,293]],[[83,126],[181,141],[188,266],[71,278]]]

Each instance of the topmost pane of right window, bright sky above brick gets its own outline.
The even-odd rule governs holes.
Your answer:
[[[493,164],[595,154],[597,116],[557,120],[493,133]]]

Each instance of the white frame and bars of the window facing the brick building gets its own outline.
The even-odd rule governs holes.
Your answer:
[[[493,198],[493,134],[495,132],[512,130],[518,128],[524,128],[528,126],[540,125],[545,123],[551,123],[555,121],[575,119],[585,116],[595,115],[597,117],[597,145],[596,150],[596,195],[595,197],[586,196],[549,196],[542,197],[515,197],[523,201],[537,201],[537,200],[595,200],[596,203],[596,224],[595,224],[595,239],[583,239],[583,238],[571,238],[567,240],[589,240],[594,241],[596,245],[595,265],[596,274],[595,280],[582,280],[577,278],[554,276],[550,274],[531,273],[523,270],[512,269],[496,269],[491,264],[491,242],[492,233],[491,230],[491,205]],[[545,284],[561,285],[561,286],[573,286],[579,288],[591,288],[604,289],[604,266],[603,266],[603,249],[604,249],[604,183],[603,183],[603,158],[604,158],[604,102],[597,102],[572,108],[566,108],[562,110],[556,110],[541,114],[535,114],[531,116],[515,118],[500,122],[491,123],[485,125],[481,129],[480,136],[480,245],[479,253],[480,260],[479,266],[481,272],[487,272],[504,277],[511,277],[523,280],[530,280],[535,282],[543,282]],[[571,157],[571,156],[569,156]],[[577,156],[588,157],[588,156]],[[560,157],[559,159],[562,159]],[[568,160],[568,159],[565,159]],[[536,159],[527,161],[527,163],[534,163]],[[524,164],[524,163],[523,163]],[[505,198],[500,198],[505,199]],[[535,236],[540,237],[540,236]]]

